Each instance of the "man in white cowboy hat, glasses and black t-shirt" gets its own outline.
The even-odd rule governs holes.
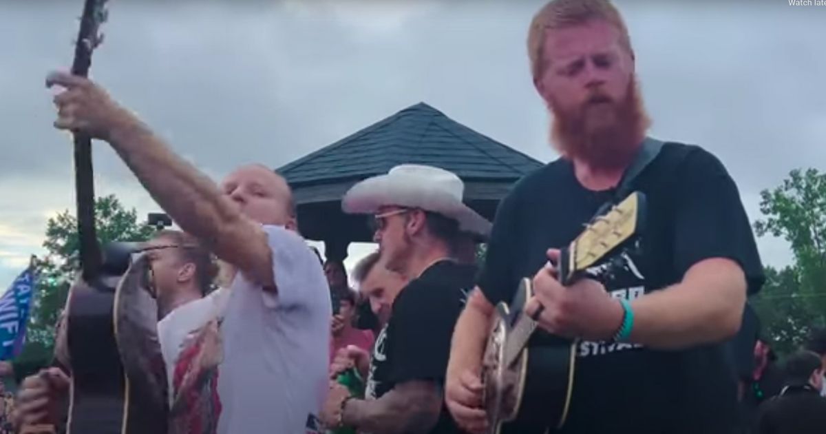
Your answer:
[[[365,399],[332,386],[321,419],[328,427],[359,431],[458,432],[444,411],[442,386],[450,336],[475,266],[453,258],[463,233],[487,236],[491,223],[463,202],[455,174],[424,165],[399,165],[356,184],[344,195],[345,212],[373,214],[387,269],[411,279],[393,302],[377,337]]]

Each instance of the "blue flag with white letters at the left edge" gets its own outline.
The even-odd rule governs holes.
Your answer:
[[[14,358],[23,348],[35,280],[34,269],[30,266],[0,297],[0,360]]]

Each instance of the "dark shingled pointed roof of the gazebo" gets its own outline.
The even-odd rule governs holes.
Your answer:
[[[515,180],[542,165],[418,103],[277,171],[297,188],[364,179],[404,163],[448,169],[466,182]]]

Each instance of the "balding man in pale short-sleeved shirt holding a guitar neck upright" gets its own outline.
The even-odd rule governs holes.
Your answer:
[[[306,432],[327,389],[332,309],[318,258],[297,234],[287,183],[251,165],[219,187],[88,79],[53,73],[46,83],[66,89],[55,96],[57,128],[107,141],[183,231],[238,270],[159,329],[191,331],[167,360],[178,385],[173,430]]]

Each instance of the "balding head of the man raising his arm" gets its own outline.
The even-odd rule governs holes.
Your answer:
[[[292,190],[286,179],[267,166],[241,166],[224,179],[221,189],[255,222],[296,229]]]

